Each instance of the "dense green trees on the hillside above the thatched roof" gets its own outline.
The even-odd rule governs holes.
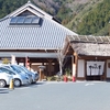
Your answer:
[[[105,0],[99,3],[97,8],[92,9],[77,26],[77,32],[79,34],[97,34],[108,35],[108,26],[110,21],[110,0]],[[100,32],[100,30],[107,29],[107,32]],[[103,31],[103,30],[102,30]],[[106,30],[105,30],[106,31]]]

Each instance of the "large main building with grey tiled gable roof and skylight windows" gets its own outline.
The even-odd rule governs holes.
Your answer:
[[[0,61],[11,57],[46,76],[58,72],[57,53],[66,35],[77,35],[30,1],[0,20]],[[26,65],[25,65],[26,66]]]

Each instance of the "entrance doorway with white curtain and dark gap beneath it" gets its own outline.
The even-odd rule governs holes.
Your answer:
[[[87,80],[100,80],[103,75],[105,62],[87,62]]]

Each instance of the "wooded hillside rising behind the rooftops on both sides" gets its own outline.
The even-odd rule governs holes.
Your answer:
[[[29,0],[0,0],[0,18]],[[109,34],[110,0],[31,0],[78,34]]]

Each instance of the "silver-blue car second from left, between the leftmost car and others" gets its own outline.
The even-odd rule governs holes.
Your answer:
[[[21,85],[30,84],[28,77],[25,77],[24,75],[20,75],[18,73],[11,70],[10,68],[0,67],[0,70],[3,73],[10,74],[13,77],[15,87],[20,87]]]

